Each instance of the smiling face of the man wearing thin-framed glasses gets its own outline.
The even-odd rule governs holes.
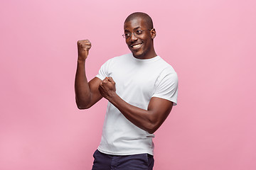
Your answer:
[[[154,53],[153,39],[156,36],[155,30],[149,30],[142,18],[133,18],[124,23],[124,34],[126,33],[131,33],[131,36],[125,39],[134,57],[150,58],[151,53]]]

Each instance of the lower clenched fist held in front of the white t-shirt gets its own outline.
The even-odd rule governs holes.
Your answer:
[[[106,77],[104,80],[102,80],[99,86],[99,91],[102,97],[106,98],[107,100],[110,100],[110,98],[116,94],[115,82],[112,77]]]

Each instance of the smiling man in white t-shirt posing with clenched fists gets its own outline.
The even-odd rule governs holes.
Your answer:
[[[177,102],[177,74],[156,55],[156,30],[150,16],[139,12],[129,15],[123,36],[132,53],[105,62],[89,82],[85,61],[91,43],[78,41],[78,108],[90,108],[102,97],[109,101],[92,169],[153,169],[153,133]]]

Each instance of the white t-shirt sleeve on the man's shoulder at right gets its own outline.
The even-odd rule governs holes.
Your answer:
[[[152,97],[164,98],[174,102],[174,106],[176,106],[178,98],[178,76],[176,72],[169,69],[165,70],[159,75],[157,81],[156,91]]]

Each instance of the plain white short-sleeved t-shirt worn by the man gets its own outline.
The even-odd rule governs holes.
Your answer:
[[[116,93],[127,103],[147,109],[151,97],[177,103],[178,77],[161,57],[139,60],[132,53],[107,60],[98,78],[112,77]],[[107,104],[107,113],[98,150],[105,154],[154,154],[153,134],[132,124],[120,111]]]

